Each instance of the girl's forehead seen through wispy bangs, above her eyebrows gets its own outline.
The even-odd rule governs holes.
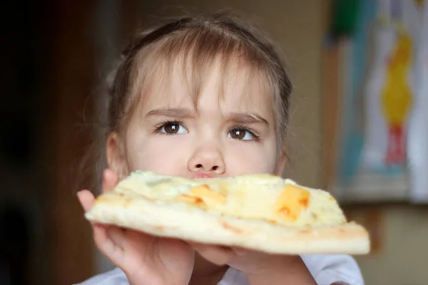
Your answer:
[[[257,68],[237,60],[225,64],[217,58],[203,69],[195,69],[180,59],[169,66],[165,62],[159,64],[152,73],[150,86],[142,89],[140,111],[179,106],[194,108],[199,113],[273,115],[272,92]]]

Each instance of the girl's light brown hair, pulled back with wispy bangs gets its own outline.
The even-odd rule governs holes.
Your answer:
[[[215,86],[219,100],[238,77],[240,90],[233,92],[242,93],[240,100],[246,98],[245,103],[254,105],[256,97],[250,94],[255,93],[270,100],[278,138],[284,138],[292,86],[281,59],[253,27],[222,16],[173,21],[141,33],[126,48],[110,91],[110,130],[122,133],[137,106],[152,96],[165,94],[171,99],[177,74],[180,88],[185,88],[197,110],[201,90],[213,71],[220,73]]]

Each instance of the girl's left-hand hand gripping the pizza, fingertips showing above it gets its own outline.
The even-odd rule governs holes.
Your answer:
[[[105,170],[103,192],[113,190],[117,182],[116,173]],[[95,198],[90,191],[82,190],[78,199],[88,212]],[[125,272],[130,284],[188,284],[194,262],[189,244],[116,226],[92,224],[92,229],[98,249]]]

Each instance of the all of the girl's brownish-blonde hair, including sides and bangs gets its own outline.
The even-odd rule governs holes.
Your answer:
[[[150,88],[156,70],[163,68],[162,74],[167,77],[180,60],[183,72],[190,70],[188,83],[196,105],[205,74],[218,59],[223,69],[238,61],[250,68],[250,76],[263,80],[272,95],[278,145],[282,145],[292,91],[290,79],[272,43],[253,26],[230,14],[186,16],[139,33],[123,51],[113,74],[107,133],[121,133],[139,100],[143,100],[142,94]]]

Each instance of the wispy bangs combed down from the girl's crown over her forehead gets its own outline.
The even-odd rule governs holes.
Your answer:
[[[272,100],[269,66],[263,53],[249,45],[243,38],[220,28],[203,26],[175,31],[143,48],[133,66],[134,98],[144,103],[156,92],[172,94],[172,78],[179,74],[180,83],[186,88],[197,110],[198,99],[208,77],[215,68],[220,69],[219,100],[224,98],[225,83],[238,76],[245,76],[243,98],[255,86]],[[159,90],[158,87],[161,87]],[[249,90],[251,89],[251,90]]]

